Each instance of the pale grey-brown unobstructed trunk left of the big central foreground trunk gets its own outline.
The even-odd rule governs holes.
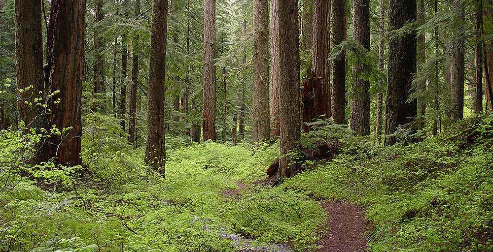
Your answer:
[[[269,140],[269,5],[253,2],[253,142]]]

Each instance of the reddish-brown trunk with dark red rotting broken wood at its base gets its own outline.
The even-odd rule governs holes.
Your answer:
[[[329,68],[330,0],[314,0],[311,79],[303,84],[303,123],[331,117]],[[303,130],[309,127],[303,125]]]

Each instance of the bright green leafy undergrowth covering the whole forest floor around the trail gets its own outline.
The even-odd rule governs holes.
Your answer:
[[[373,252],[493,251],[491,117],[386,148],[314,128],[302,146],[337,138],[342,149],[274,188],[254,185],[278,143],[170,148],[163,178],[116,136],[83,137],[86,167],[32,166],[36,137],[1,131],[0,251],[233,252],[221,235],[236,234],[309,252],[326,219],[319,201],[331,199],[365,208]]]

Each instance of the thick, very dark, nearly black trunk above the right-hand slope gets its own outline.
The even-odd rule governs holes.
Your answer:
[[[388,30],[401,29],[416,20],[416,0],[390,0],[388,5]],[[387,99],[385,109],[386,145],[396,142],[390,136],[399,125],[416,118],[416,99],[407,101],[411,90],[411,79],[416,73],[416,33],[390,36],[388,41]]]

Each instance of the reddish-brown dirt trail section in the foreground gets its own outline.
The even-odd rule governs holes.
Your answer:
[[[319,241],[317,252],[365,252],[368,244],[362,209],[344,201],[326,201],[327,233]]]

